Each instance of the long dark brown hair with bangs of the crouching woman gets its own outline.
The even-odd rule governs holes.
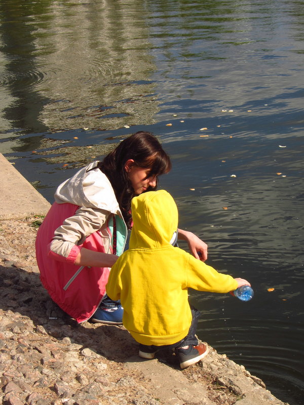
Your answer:
[[[125,170],[127,160],[134,165],[149,168],[149,176],[160,176],[171,170],[171,160],[158,139],[149,132],[136,132],[124,139],[112,152],[99,162],[99,169],[109,179],[115,191],[127,227],[131,226],[131,199],[136,195]],[[157,180],[158,184],[158,180]],[[149,187],[146,191],[156,190]]]

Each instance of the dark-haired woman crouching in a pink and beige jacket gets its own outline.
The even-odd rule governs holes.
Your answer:
[[[137,132],[57,188],[37,233],[36,259],[51,298],[78,322],[122,323],[120,302],[106,297],[105,285],[132,226],[131,199],[155,190],[158,176],[170,169],[159,141]],[[203,241],[182,230],[178,236],[206,260]]]

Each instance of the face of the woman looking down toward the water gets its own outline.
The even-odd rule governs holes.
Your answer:
[[[128,173],[129,180],[135,194],[139,195],[144,192],[148,187],[155,187],[157,184],[157,176],[150,176],[151,169],[141,168],[134,164],[133,159],[129,159],[125,165],[126,172]]]

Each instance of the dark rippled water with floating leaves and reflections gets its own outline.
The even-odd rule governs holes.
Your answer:
[[[304,403],[303,21],[287,0],[0,4],[0,151],[52,202],[124,136],[158,135],[180,227],[255,291],[193,292],[199,336],[291,405]]]

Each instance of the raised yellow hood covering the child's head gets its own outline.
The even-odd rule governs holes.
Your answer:
[[[165,190],[148,191],[132,199],[133,228],[130,249],[160,249],[171,245],[178,211]]]

